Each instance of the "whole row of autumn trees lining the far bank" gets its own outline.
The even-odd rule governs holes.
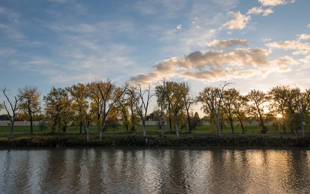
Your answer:
[[[301,129],[303,136],[303,122],[308,120],[310,105],[310,90],[301,92],[300,88],[291,88],[288,85],[271,88],[269,92],[251,90],[241,95],[238,90],[231,88],[232,83],[225,82],[219,87],[206,87],[199,95],[194,95],[188,82],[158,81],[155,92],[150,91],[150,84],[142,87],[139,83],[117,86],[110,79],[95,80],[89,83],[78,83],[65,88],[52,87],[46,96],[43,96],[44,108],[40,105],[41,92],[37,87],[25,86],[18,89],[14,99],[9,98],[9,90],[2,88],[6,101],[0,104],[0,109],[6,109],[11,121],[10,138],[17,112],[29,115],[33,133],[33,114],[44,111],[51,121],[51,130],[58,133],[68,129],[69,121],[74,120],[80,127],[84,126],[84,133],[88,136],[90,123],[95,123],[100,131],[100,139],[104,130],[114,127],[122,120],[127,132],[135,131],[136,125],[141,122],[143,135],[146,135],[145,121],[152,117],[157,120],[164,136],[163,124],[169,124],[179,137],[179,130],[188,125],[189,133],[198,125],[200,118],[193,115],[192,108],[201,103],[205,113],[204,120],[211,124],[211,131],[221,136],[223,124],[229,124],[234,133],[234,123],[238,122],[245,134],[244,122],[258,120],[261,132],[266,133],[268,128],[265,122],[274,121],[284,132],[290,129],[297,133]],[[148,115],[149,103],[152,97],[157,98],[157,105]],[[216,130],[217,129],[217,130]]]

